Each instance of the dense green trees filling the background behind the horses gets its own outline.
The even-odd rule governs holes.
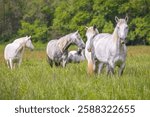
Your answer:
[[[112,33],[114,17],[129,16],[128,44],[150,44],[149,0],[0,0],[0,42],[31,35],[35,42],[96,24]]]

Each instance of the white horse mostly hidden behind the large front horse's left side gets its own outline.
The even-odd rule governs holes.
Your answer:
[[[86,31],[86,37],[87,37],[87,41],[86,41],[86,46],[85,46],[85,57],[88,61],[88,73],[92,74],[93,73],[93,62],[92,62],[92,57],[91,57],[91,52],[88,51],[88,46],[90,44],[90,40],[93,39],[97,34],[99,34],[96,26],[92,26],[92,27],[86,27],[87,31]]]

